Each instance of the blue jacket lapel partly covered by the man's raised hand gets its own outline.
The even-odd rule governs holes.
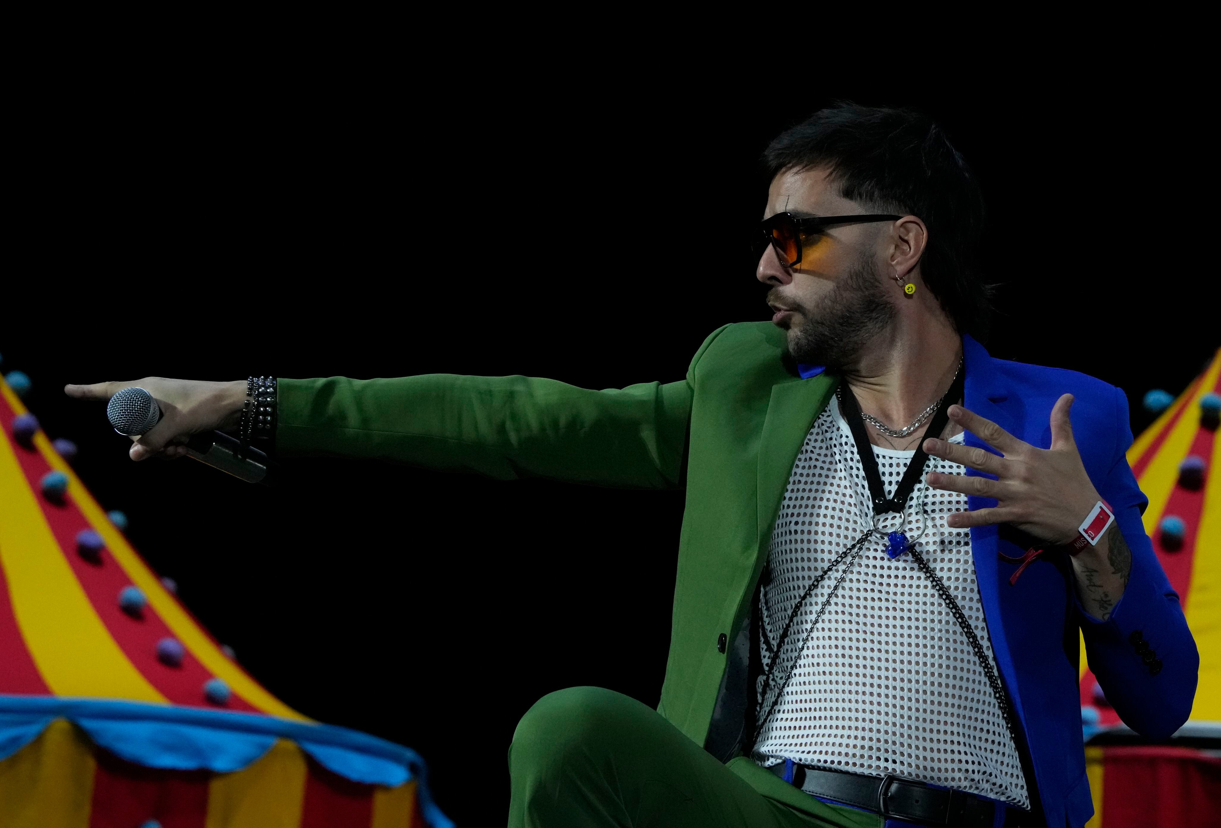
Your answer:
[[[967,372],[966,388],[963,390],[963,402],[966,407],[985,416],[1010,434],[1021,436],[1024,431],[1020,423],[1004,405],[1009,399],[1009,391],[999,382],[993,358],[984,350],[984,347],[969,336],[962,337],[962,361]],[[979,440],[969,431],[966,434],[967,446],[978,446],[996,454],[998,452]],[[967,469],[967,476],[978,478],[979,471]],[[969,509],[980,509],[996,506],[996,501],[990,497],[967,497]],[[1013,657],[1005,637],[1005,625],[1000,612],[1000,575],[996,565],[998,526],[976,526],[971,530],[971,556],[976,562],[976,579],[979,584],[979,600],[984,607],[984,620],[988,624],[988,636],[991,639],[993,653],[996,657],[996,666],[1001,678],[1009,690],[1010,700],[1017,712],[1018,718],[1026,722],[1022,711],[1022,697],[1017,692],[1017,669],[1013,666]]]

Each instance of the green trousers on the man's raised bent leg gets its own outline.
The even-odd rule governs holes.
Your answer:
[[[510,828],[879,828],[746,757],[722,764],[657,711],[602,688],[543,696],[509,747]]]

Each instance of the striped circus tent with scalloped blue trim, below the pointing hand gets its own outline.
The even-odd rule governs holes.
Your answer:
[[[38,430],[27,383],[0,382],[0,828],[452,826],[413,751],[308,719],[230,657]]]

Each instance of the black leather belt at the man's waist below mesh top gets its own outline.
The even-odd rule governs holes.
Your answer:
[[[785,762],[768,768],[785,778]],[[866,777],[792,764],[792,785],[812,796],[833,799],[891,819],[910,819],[947,828],[991,828],[995,808],[1005,808],[1005,828],[1034,826],[1029,811],[961,790],[933,788],[899,777]]]

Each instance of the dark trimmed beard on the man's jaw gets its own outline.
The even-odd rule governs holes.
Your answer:
[[[862,348],[885,331],[895,319],[895,308],[883,289],[884,277],[871,260],[853,265],[835,281],[817,308],[795,304],[801,325],[789,329],[789,354],[797,363],[825,365],[842,371],[856,361]],[[773,288],[768,294],[780,300]],[[789,304],[792,304],[789,300]]]

